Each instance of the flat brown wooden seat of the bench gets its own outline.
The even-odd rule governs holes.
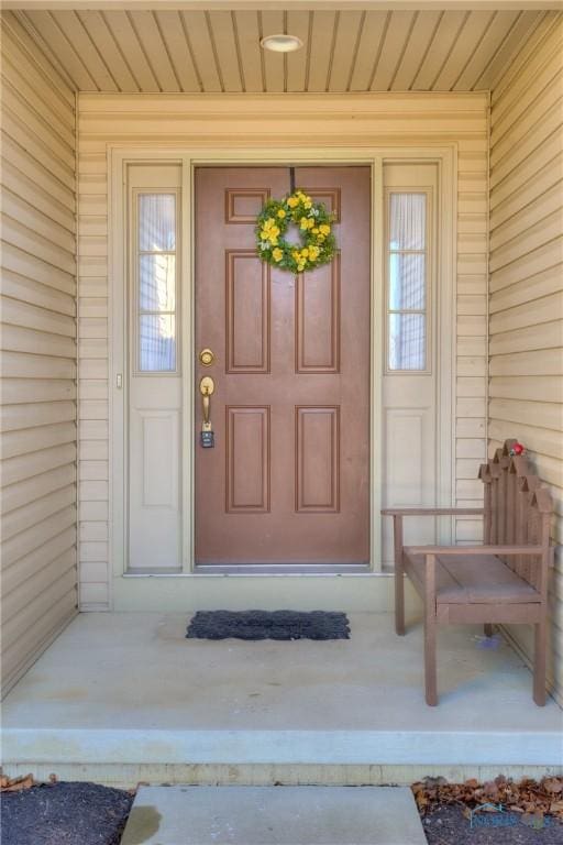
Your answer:
[[[404,548],[405,570],[417,592],[424,595],[426,560]],[[523,604],[541,602],[541,595],[495,555],[438,555],[437,604]]]

